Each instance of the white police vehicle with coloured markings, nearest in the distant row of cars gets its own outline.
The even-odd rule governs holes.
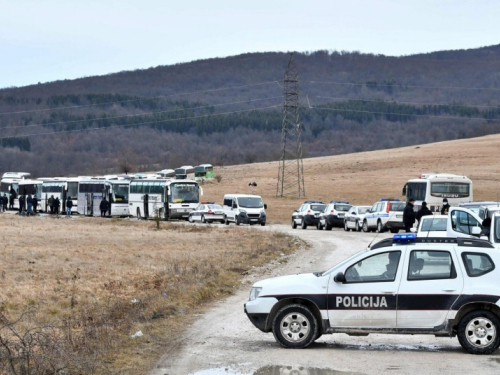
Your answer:
[[[398,233],[404,229],[403,211],[405,203],[395,198],[382,198],[372,208],[366,211],[363,219],[363,232],[376,230],[378,233],[387,229],[391,233]]]

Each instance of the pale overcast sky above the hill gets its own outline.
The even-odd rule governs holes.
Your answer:
[[[246,52],[500,43],[500,0],[0,0],[0,88]]]

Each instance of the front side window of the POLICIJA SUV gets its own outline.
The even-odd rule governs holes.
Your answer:
[[[345,271],[348,283],[394,281],[401,251],[391,251],[365,258]]]

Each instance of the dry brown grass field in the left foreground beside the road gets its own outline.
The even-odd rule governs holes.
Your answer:
[[[207,302],[302,245],[248,228],[84,217],[2,214],[0,228],[0,374],[147,373]]]

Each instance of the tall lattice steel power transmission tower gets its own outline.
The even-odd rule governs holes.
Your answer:
[[[299,74],[292,54],[288,61],[284,80],[281,159],[278,169],[277,197],[305,197],[300,133]]]

